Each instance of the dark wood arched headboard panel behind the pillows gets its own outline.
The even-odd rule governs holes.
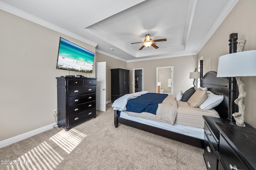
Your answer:
[[[221,118],[228,117],[228,78],[217,77],[217,72],[209,71],[201,78],[201,87],[207,87],[208,90],[216,95],[222,94],[224,100],[219,106],[214,107]]]

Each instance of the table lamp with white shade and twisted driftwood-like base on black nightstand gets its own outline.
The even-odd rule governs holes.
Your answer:
[[[236,125],[245,127],[244,98],[246,96],[245,85],[242,76],[256,76],[256,50],[230,53],[219,57],[217,77],[236,77],[238,85],[238,98],[234,101],[238,105],[238,112],[232,116]]]

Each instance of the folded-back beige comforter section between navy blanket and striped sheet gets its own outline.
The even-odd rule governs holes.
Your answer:
[[[174,124],[178,113],[176,96],[168,95],[162,103],[158,104],[156,118],[161,121]]]

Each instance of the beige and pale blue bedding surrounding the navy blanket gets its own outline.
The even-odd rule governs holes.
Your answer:
[[[214,109],[202,110],[199,107],[190,107],[187,102],[181,102],[176,100],[176,96],[168,95],[161,104],[158,104],[156,115],[152,113],[142,112],[134,113],[126,111],[126,104],[129,99],[136,98],[148,92],[136,92],[133,94],[126,94],[116,100],[112,107],[114,110],[123,111],[127,115],[133,117],[140,117],[143,119],[165,122],[170,125],[178,124],[189,127],[204,128],[203,115],[211,117],[220,117],[218,112]]]

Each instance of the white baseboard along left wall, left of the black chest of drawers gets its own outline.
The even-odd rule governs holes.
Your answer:
[[[39,133],[42,133],[44,131],[48,131],[48,130],[52,129],[54,125],[56,125],[56,123],[52,123],[50,125],[40,127],[38,129],[35,129],[35,130],[29,131],[27,133],[23,133],[21,135],[6,139],[4,141],[0,141],[0,148],[6,147],[6,146],[11,145],[13,143],[16,143],[18,141],[22,141],[24,139],[27,139],[29,137],[32,137],[32,136],[37,135]]]

